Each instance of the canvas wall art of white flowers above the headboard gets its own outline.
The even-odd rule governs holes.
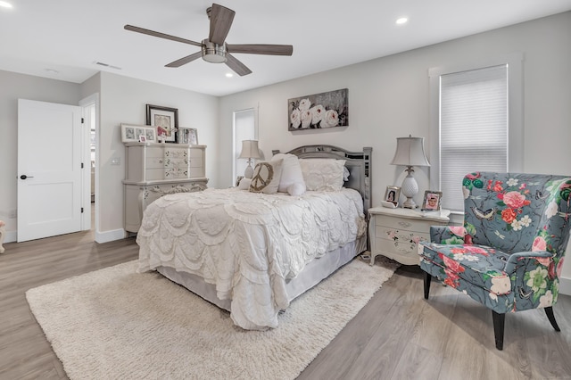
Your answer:
[[[305,95],[287,101],[288,130],[347,127],[348,89]]]

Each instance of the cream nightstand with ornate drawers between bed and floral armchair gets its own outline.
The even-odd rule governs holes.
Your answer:
[[[430,226],[446,226],[449,210],[419,211],[411,209],[368,209],[368,237],[371,262],[379,254],[405,265],[418,265],[417,245],[430,241]]]

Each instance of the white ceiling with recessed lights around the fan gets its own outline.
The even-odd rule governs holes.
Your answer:
[[[208,37],[211,1],[5,1],[13,8],[0,8],[0,70],[76,83],[103,70],[211,95],[571,10],[571,0],[219,0],[236,11],[229,44],[294,45],[291,57],[235,54],[252,74],[226,78],[228,66],[201,59],[165,68],[199,48],[123,29],[131,24],[200,42]],[[409,22],[396,25],[402,16]]]

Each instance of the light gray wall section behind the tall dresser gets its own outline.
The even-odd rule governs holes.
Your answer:
[[[101,73],[99,134],[99,226],[100,233],[122,237],[125,147],[121,143],[120,124],[145,124],[146,104],[178,109],[180,127],[197,128],[198,141],[206,149],[206,176],[217,186],[218,97],[203,95],[143,80]],[[120,165],[112,165],[113,158]],[[107,239],[103,239],[107,240]]]

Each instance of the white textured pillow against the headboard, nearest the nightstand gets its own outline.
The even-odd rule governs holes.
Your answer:
[[[303,179],[311,191],[340,191],[345,160],[300,159]]]

